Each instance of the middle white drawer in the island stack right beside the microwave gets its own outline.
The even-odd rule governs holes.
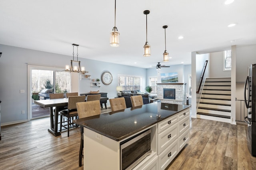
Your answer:
[[[158,154],[165,150],[174,140],[178,138],[178,123],[158,134]]]

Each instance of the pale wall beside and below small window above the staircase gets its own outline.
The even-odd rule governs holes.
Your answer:
[[[223,51],[210,53],[209,77],[231,77],[231,71],[223,71]]]

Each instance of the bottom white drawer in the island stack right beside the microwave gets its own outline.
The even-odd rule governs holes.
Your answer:
[[[158,156],[159,170],[164,170],[178,154],[178,140],[176,139],[164,152]]]

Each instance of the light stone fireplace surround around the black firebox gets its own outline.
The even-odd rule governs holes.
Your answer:
[[[156,83],[157,98],[161,101],[174,104],[186,104],[184,83]],[[164,99],[164,89],[175,89],[175,99]]]

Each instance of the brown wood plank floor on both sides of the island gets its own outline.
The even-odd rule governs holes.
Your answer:
[[[102,113],[109,109],[102,109]],[[246,125],[204,119],[190,120],[190,141],[168,170],[255,170],[256,158],[247,148]],[[80,128],[48,132],[50,118],[2,127],[0,170],[80,170]]]

